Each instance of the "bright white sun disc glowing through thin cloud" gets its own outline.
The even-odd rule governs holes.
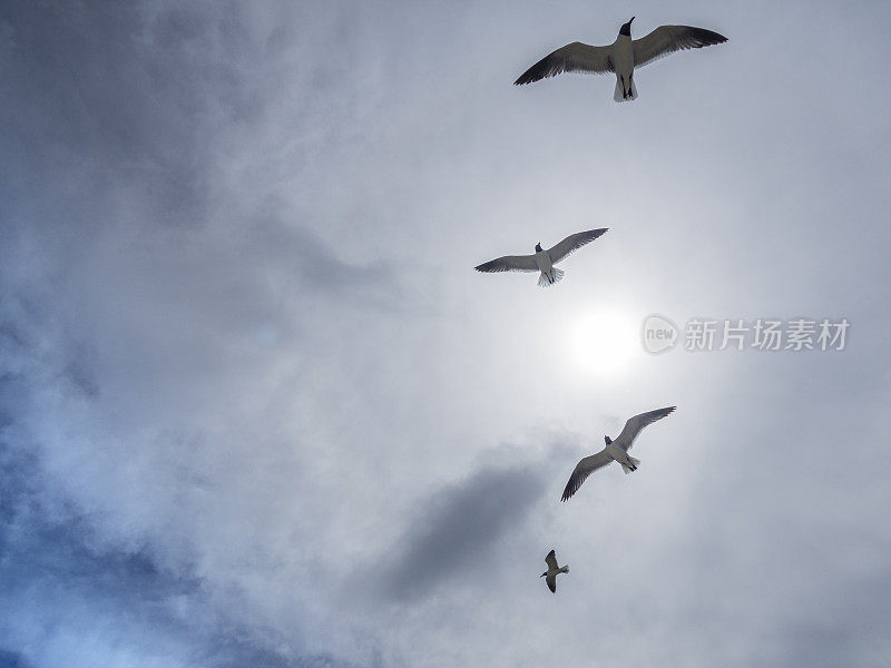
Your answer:
[[[626,371],[640,354],[639,323],[611,310],[594,311],[572,318],[569,363],[598,376]]]

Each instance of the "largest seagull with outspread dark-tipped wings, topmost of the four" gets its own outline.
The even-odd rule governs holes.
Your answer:
[[[615,72],[616,91],[613,99],[624,102],[637,99],[635,67],[643,67],[682,49],[701,49],[727,41],[723,35],[689,26],[659,26],[646,37],[631,40],[631,21],[634,17],[621,26],[619,36],[610,46],[591,47],[581,42],[566,45],[536,62],[513,85],[531,84],[560,72]]]

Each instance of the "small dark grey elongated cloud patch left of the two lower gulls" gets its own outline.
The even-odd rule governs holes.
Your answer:
[[[482,568],[491,548],[522,522],[545,485],[541,471],[532,466],[489,466],[434,492],[388,556],[391,596],[422,598],[466,568]]]

